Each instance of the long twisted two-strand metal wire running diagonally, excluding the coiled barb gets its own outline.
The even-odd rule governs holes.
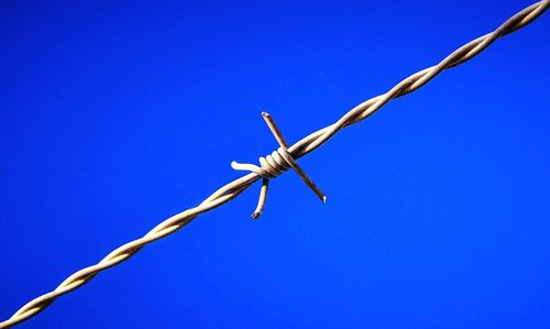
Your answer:
[[[439,64],[410,75],[386,94],[373,97],[360,103],[348,113],[345,113],[336,123],[322,128],[301,139],[297,143],[288,147],[287,152],[295,160],[312,152],[314,150],[326,143],[338,131],[364,120],[365,118],[377,111],[380,108],[382,108],[389,100],[405,96],[414,90],[419,89],[442,70],[470,61],[498,37],[507,35],[529,24],[536,18],[542,14],[548,9],[549,4],[550,0],[543,0],[527,7],[526,9],[521,10],[520,12],[508,19],[506,22],[504,22],[494,32],[480,36],[461,46],[452,54],[443,58],[443,61],[441,61]],[[68,294],[72,290],[82,286],[100,272],[122,263],[123,261],[134,255],[146,244],[174,233],[202,212],[217,208],[235,198],[261,177],[262,176],[257,173],[250,173],[222,186],[197,207],[172,216],[170,218],[153,228],[144,237],[119,246],[107,256],[105,256],[99,263],[74,273],[63,283],[61,283],[59,286],[57,286],[57,288],[55,288],[53,292],[44,294],[29,301],[26,305],[21,307],[11,318],[0,322],[0,328],[11,327],[35,316],[40,311],[47,308],[57,297]]]

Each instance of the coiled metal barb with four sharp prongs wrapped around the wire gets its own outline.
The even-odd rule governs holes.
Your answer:
[[[231,167],[235,171],[252,172],[263,178],[262,188],[260,189],[260,198],[257,200],[256,209],[252,213],[252,218],[256,219],[260,217],[260,215],[262,215],[267,196],[270,179],[279,176],[288,168],[293,168],[307,184],[307,186],[309,186],[309,188],[311,188],[311,190],[319,197],[319,199],[326,202],[327,197],[324,196],[324,194],[319,189],[319,187],[317,187],[317,185],[315,185],[311,178],[309,178],[304,169],[298,165],[290,152],[288,152],[288,144],[283,138],[283,134],[278,130],[277,125],[275,124],[272,116],[270,116],[270,113],[267,112],[262,112],[262,117],[264,118],[267,127],[272,131],[280,147],[278,147],[276,151],[273,151],[272,154],[268,154],[265,157],[260,157],[260,166],[250,163],[238,163],[235,161],[231,163]]]

